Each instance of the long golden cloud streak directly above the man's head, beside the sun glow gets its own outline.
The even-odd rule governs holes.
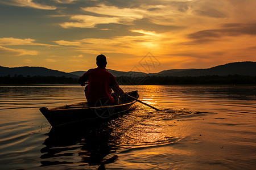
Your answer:
[[[137,36],[117,36],[111,39],[81,39],[76,41],[54,41],[59,45],[70,46],[77,51],[84,53],[123,53],[123,54],[142,54],[149,50],[158,50],[161,39],[164,35],[156,32],[131,30],[139,33]]]

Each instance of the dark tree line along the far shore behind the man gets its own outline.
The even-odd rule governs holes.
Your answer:
[[[256,76],[246,75],[208,75],[208,76],[120,76],[120,85],[157,84],[256,84]],[[65,76],[1,76],[0,84],[77,84],[78,78]]]

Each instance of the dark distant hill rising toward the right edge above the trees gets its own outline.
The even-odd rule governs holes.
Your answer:
[[[151,74],[155,76],[206,76],[249,75],[256,76],[256,62],[234,62],[210,69],[165,70]]]

